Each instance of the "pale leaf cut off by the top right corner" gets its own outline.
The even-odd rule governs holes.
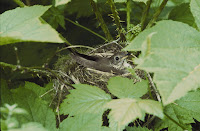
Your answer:
[[[196,21],[197,27],[200,30],[200,1],[199,0],[191,0],[190,9]]]

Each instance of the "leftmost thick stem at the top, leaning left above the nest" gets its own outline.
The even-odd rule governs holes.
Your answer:
[[[90,0],[90,4],[91,4],[91,6],[92,6],[92,8],[93,8],[93,11],[94,11],[94,13],[95,13],[95,15],[96,15],[96,18],[97,18],[97,20],[99,21],[100,26],[101,26],[101,28],[102,28],[102,30],[103,30],[105,36],[106,36],[106,39],[107,39],[108,41],[113,40],[113,38],[112,38],[112,36],[111,36],[111,34],[110,34],[110,31],[108,30],[108,27],[106,26],[106,23],[105,23],[105,21],[104,21],[102,15],[101,15],[101,13],[100,13],[100,11],[99,11],[97,5],[96,5],[96,3],[95,3],[93,0]]]

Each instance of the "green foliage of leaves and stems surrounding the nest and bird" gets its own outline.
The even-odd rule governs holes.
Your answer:
[[[0,46],[4,49],[0,62],[1,130],[198,130],[199,0],[14,2],[20,7],[6,7],[0,15]],[[108,7],[110,10],[104,11]],[[109,13],[113,14],[108,17]],[[114,23],[116,26],[112,26]],[[57,48],[87,40],[94,46],[95,42],[109,40],[107,36],[119,37],[126,46],[124,51],[139,54],[133,59],[136,67],[129,69],[138,82],[112,77],[107,81],[109,91],[105,92],[87,84],[71,85],[52,69],[54,54],[62,51],[48,49],[52,43],[60,43]],[[40,67],[23,67],[27,57],[21,53],[27,49],[24,44],[30,46],[26,52],[32,53],[36,43],[47,47],[48,53],[52,51],[52,56],[46,57],[40,50],[36,54],[42,52],[47,62]],[[10,53],[13,48],[14,53]],[[6,63],[9,55],[14,62]],[[28,57],[37,63],[32,58]],[[138,78],[135,69],[143,70],[145,80]],[[60,97],[63,89],[55,89],[52,95],[49,92],[55,87],[53,79],[74,89],[67,90],[65,98]],[[149,99],[144,99],[146,95]],[[49,106],[56,100],[56,105]]]

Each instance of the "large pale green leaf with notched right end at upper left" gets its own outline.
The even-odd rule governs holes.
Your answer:
[[[50,6],[35,5],[1,14],[0,45],[25,41],[63,43],[59,34],[40,19],[49,8]]]

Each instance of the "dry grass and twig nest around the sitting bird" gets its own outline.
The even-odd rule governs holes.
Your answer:
[[[117,43],[108,43],[95,50],[89,51],[87,55],[101,55],[102,57],[110,57],[115,52],[121,51],[122,47]],[[131,59],[131,58],[128,58]],[[134,68],[132,62],[128,62]],[[89,69],[79,65],[74,61],[70,55],[61,57],[57,63],[55,64],[55,70],[58,74],[65,80],[66,83],[70,84],[89,84],[93,86],[97,86],[107,93],[109,93],[107,89],[107,81],[116,76],[115,74],[108,73],[108,72],[101,72],[94,69]],[[144,73],[140,70],[136,70],[136,74],[140,78],[144,78]],[[136,83],[138,79],[134,78],[131,74],[121,75],[122,77],[128,77],[133,79],[133,82]],[[59,81],[56,82],[57,86],[59,85]],[[69,86],[66,86],[67,90],[72,89]]]

